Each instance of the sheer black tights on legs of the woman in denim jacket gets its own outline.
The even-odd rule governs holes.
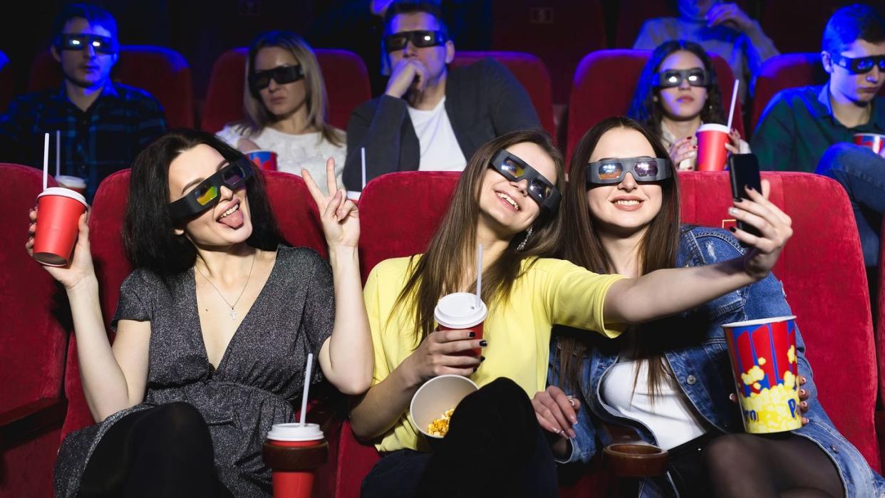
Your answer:
[[[704,449],[719,497],[843,498],[835,464],[812,441],[793,433],[726,434]]]

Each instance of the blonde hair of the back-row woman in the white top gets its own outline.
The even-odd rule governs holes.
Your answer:
[[[245,118],[235,124],[238,133],[258,134],[265,126],[273,122],[274,117],[261,101],[258,93],[252,93],[249,86],[249,75],[255,68],[255,57],[258,50],[267,47],[280,47],[288,50],[301,65],[304,73],[304,85],[307,99],[307,126],[319,131],[323,138],[337,147],[344,144],[344,138],[340,130],[326,122],[328,103],[326,98],[326,84],[323,74],[319,70],[317,57],[313,55],[311,46],[304,42],[301,36],[291,31],[273,30],[258,34],[249,47],[249,57],[246,58],[245,90],[242,95],[242,111]]]

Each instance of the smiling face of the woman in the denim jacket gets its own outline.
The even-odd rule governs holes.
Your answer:
[[[612,128],[600,137],[588,162],[614,157],[655,157],[655,150],[636,130]],[[629,172],[616,185],[594,186],[587,191],[590,217],[600,230],[612,234],[644,232],[658,215],[662,198],[660,185],[637,182]]]

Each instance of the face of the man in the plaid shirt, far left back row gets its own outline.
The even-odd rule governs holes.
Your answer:
[[[62,34],[98,34],[112,37],[110,31],[100,24],[89,24],[83,18],[71,19]],[[96,52],[87,44],[83,50],[58,50],[52,47],[52,56],[61,64],[65,79],[82,88],[101,88],[111,77],[111,69],[117,62],[117,54]]]

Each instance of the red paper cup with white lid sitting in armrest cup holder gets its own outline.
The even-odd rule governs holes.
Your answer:
[[[274,424],[271,432],[267,433],[267,442],[286,448],[312,448],[325,441],[317,424]],[[314,469],[272,471],[274,497],[310,498],[316,474]]]

